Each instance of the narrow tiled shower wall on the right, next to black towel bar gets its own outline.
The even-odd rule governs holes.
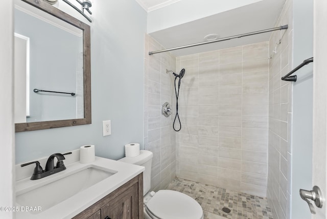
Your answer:
[[[292,1],[286,1],[276,27],[288,24],[287,30],[273,32],[269,41],[269,140],[267,199],[274,218],[290,217],[291,203],[291,119],[292,82],[281,77],[292,69]]]

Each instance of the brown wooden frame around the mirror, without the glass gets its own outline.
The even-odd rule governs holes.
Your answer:
[[[90,53],[90,26],[66,14],[65,12],[53,7],[42,0],[21,0],[46,13],[49,13],[68,24],[71,24],[83,31],[83,89],[84,89],[84,118],[83,119],[66,119],[41,122],[16,123],[15,132],[26,132],[32,130],[41,130],[49,128],[58,128],[75,125],[91,124],[91,53]]]

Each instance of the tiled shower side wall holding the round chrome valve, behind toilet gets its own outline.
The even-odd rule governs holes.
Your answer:
[[[161,105],[172,103],[171,74],[176,69],[176,58],[170,53],[149,56],[149,51],[162,49],[152,37],[145,34],[144,71],[144,144],[153,152],[151,189],[166,188],[176,178],[175,132],[172,117],[161,115]]]

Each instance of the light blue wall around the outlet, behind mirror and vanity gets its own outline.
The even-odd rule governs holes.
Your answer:
[[[134,0],[97,0],[91,8],[92,124],[16,134],[16,163],[96,145],[96,155],[119,159],[124,145],[144,148],[144,33],[147,13]],[[112,134],[102,136],[102,121]]]

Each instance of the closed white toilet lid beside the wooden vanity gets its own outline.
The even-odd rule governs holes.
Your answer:
[[[203,215],[199,203],[189,195],[173,190],[159,190],[146,203],[146,208],[162,219],[200,219]]]

